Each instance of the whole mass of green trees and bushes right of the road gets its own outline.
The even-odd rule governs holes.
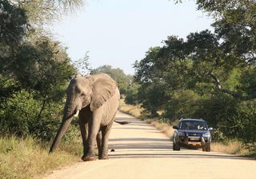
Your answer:
[[[236,137],[254,144],[256,3],[196,3],[214,17],[214,33],[170,36],[162,47],[151,47],[134,64],[138,101],[153,115],[202,117],[223,134],[221,140]]]

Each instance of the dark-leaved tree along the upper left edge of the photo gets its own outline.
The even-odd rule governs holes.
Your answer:
[[[0,0],[0,22],[0,101],[2,101],[19,89],[17,82],[12,78],[12,68],[15,54],[28,33],[26,11],[10,4],[7,0]]]

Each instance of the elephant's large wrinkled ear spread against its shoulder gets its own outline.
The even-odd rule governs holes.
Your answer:
[[[116,91],[117,83],[107,74],[101,75],[93,83],[93,94],[90,101],[90,110],[94,111],[104,104]]]

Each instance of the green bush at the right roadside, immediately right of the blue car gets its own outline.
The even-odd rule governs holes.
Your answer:
[[[240,101],[224,93],[202,100],[198,115],[214,127],[214,141],[238,138],[245,144],[256,141],[255,100]]]

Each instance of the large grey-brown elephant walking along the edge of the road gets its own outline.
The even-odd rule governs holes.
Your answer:
[[[50,147],[50,153],[54,152],[62,140],[72,117],[78,117],[83,144],[82,161],[96,160],[94,154],[96,141],[98,159],[108,159],[108,138],[119,100],[117,83],[109,75],[78,74],[67,87],[62,124]]]

